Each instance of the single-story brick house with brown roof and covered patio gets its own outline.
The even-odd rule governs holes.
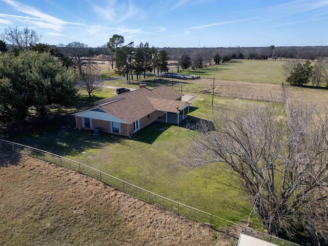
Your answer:
[[[131,136],[168,113],[177,115],[177,124],[188,116],[190,103],[181,101],[182,93],[167,86],[148,89],[140,84],[135,91],[95,101],[94,107],[72,114],[76,127],[99,128],[102,132]],[[185,109],[188,112],[185,116]]]

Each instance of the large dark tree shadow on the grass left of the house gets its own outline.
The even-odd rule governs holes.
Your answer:
[[[103,133],[96,136],[92,130],[75,129],[75,119],[71,115],[12,124],[2,131],[2,138],[61,156],[79,155],[88,149],[99,149],[124,140],[118,135]]]

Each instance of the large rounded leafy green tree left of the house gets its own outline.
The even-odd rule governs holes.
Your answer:
[[[31,110],[44,117],[51,106],[68,106],[78,76],[49,53],[0,54],[0,121],[24,120]]]

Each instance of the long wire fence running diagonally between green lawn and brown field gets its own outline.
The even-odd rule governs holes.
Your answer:
[[[196,220],[203,224],[207,224],[211,228],[225,232],[226,234],[233,236],[235,238],[239,237],[239,233],[242,232],[244,234],[269,241],[275,243],[277,245],[299,245],[275,236],[271,236],[262,232],[258,232],[249,227],[242,226],[241,224],[237,224],[231,222],[229,220],[223,219],[219,216],[192,208],[187,206],[186,204],[171,200],[169,198],[160,196],[153,192],[147,191],[135,185],[132,185],[129,182],[111,176],[107,173],[89,167],[83,163],[80,163],[75,160],[68,159],[66,157],[56,155],[44,150],[39,150],[33,147],[17,144],[15,142],[2,140],[0,139],[0,149],[8,149],[17,153],[27,154],[34,158],[42,159],[45,161],[49,161],[58,166],[69,168],[73,171],[77,171],[81,174],[85,174],[92,178],[95,178],[101,182],[106,183],[107,185],[122,191],[126,194],[129,194],[133,197],[136,197],[142,201],[148,202],[149,204],[153,204],[156,207],[166,209],[168,211],[174,212],[177,215],[184,216],[186,218]],[[239,230],[238,230],[239,229]]]

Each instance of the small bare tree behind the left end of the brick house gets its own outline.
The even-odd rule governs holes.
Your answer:
[[[89,97],[91,97],[92,92],[99,90],[101,86],[100,75],[90,68],[83,69],[81,87],[88,92]]]

